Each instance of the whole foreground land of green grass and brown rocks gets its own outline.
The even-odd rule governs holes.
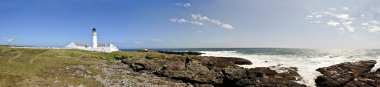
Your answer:
[[[380,85],[380,82],[376,82],[380,81],[376,79],[380,78],[376,77],[380,76],[380,69],[375,67],[378,65],[376,60],[339,62],[316,69],[286,65],[244,68],[242,66],[262,65],[260,61],[263,62],[263,60],[252,58],[255,60],[250,61],[244,59],[249,57],[215,57],[186,53],[164,54],[156,51],[102,53],[83,50],[0,47],[0,52],[2,53],[0,57],[7,60],[0,61],[5,64],[0,66],[1,70],[21,71],[0,72],[1,76],[6,77],[0,78],[0,81],[12,82],[12,84],[0,84],[0,86],[367,86],[358,83]],[[18,68],[14,68],[15,66]],[[371,69],[377,70],[370,72]],[[42,71],[42,73],[34,70]],[[300,83],[303,79],[307,79],[302,77],[304,74],[300,72],[315,70],[321,73],[316,76],[316,79],[312,79],[316,84]],[[339,72],[339,74],[334,72]],[[24,74],[13,75],[20,73]],[[16,77],[19,79],[15,79]],[[81,84],[76,84],[78,82]]]

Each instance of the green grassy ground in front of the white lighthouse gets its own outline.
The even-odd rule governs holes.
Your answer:
[[[145,55],[162,57],[162,54],[155,52],[102,53],[0,46],[0,87],[56,87],[81,84],[98,87],[101,86],[100,82],[85,75],[100,75],[101,69],[97,67],[100,60],[112,61],[116,60],[117,56],[144,58]],[[84,66],[85,69],[79,66]]]

